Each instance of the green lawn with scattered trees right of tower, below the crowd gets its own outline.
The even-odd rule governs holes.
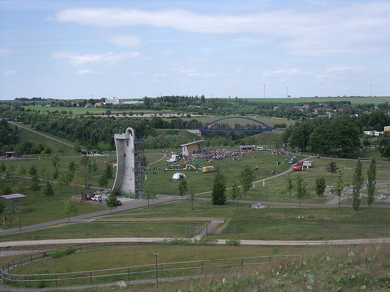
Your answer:
[[[255,156],[253,158],[252,156]],[[297,159],[302,159],[304,156],[296,155]],[[253,152],[248,153],[246,157],[241,158],[240,161],[231,159],[224,160],[215,160],[211,163],[207,163],[205,159],[199,159],[197,162],[200,165],[213,165],[219,166],[222,172],[226,176],[226,186],[230,187],[234,179],[238,180],[239,171],[244,168],[245,165],[249,165],[252,169],[255,166],[259,166],[259,170],[254,171],[256,176],[256,181],[259,181],[255,184],[254,188],[251,188],[247,193],[245,199],[247,200],[258,200],[258,201],[293,201],[297,202],[297,199],[289,199],[289,194],[286,192],[286,183],[288,177],[292,177],[295,172],[290,172],[281,177],[277,177],[271,180],[265,181],[265,186],[263,186],[263,179],[272,177],[270,174],[265,174],[264,171],[276,170],[277,173],[281,173],[290,169],[291,164],[284,164],[284,159],[290,160],[288,155],[273,156],[269,155],[269,152]],[[304,170],[301,173],[306,183],[308,183],[309,196],[302,198],[302,202],[312,202],[312,203],[323,203],[329,201],[329,199],[322,197],[318,198],[315,195],[314,186],[315,179],[319,176],[322,176],[326,180],[327,185],[335,185],[337,176],[331,176],[325,169],[325,166],[329,164],[332,160],[327,158],[314,158],[313,167],[309,170]],[[280,165],[276,165],[277,162],[281,162]],[[344,171],[345,181],[351,183],[353,176],[353,169],[356,165],[356,161],[348,159],[335,159],[337,166]],[[366,175],[369,162],[363,161],[363,174]],[[387,165],[387,164],[386,164]],[[165,167],[165,163],[162,161],[159,164],[153,165],[153,167],[160,167],[162,169]],[[346,168],[344,170],[344,167]],[[153,170],[153,169],[152,169]],[[152,184],[156,187],[157,192],[167,195],[177,195],[178,194],[178,182],[175,180],[168,182],[169,178],[172,178],[173,174],[176,171],[161,171],[158,170],[156,174],[148,173],[147,174],[147,183]],[[198,171],[197,174],[195,171],[182,171],[187,176],[188,183],[195,189],[196,193],[204,193],[211,191],[213,184],[214,173],[205,174],[201,171]],[[379,183],[390,183],[390,164],[385,168],[380,168],[380,164],[377,163],[377,184]],[[349,188],[350,190],[351,188]],[[330,188],[326,189],[326,194],[329,194],[331,191]],[[363,189],[364,193],[365,189]],[[378,192],[377,194],[382,193]],[[210,193],[200,195],[202,197],[210,197]]]

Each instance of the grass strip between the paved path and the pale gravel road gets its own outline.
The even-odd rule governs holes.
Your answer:
[[[94,222],[70,223],[0,237],[1,241],[99,237],[194,237],[211,220],[224,220],[213,232],[218,238],[255,240],[331,240],[389,237],[384,222],[388,208],[293,207],[271,205],[254,209],[250,204],[214,206],[210,201],[189,200],[153,205],[102,216]],[[315,218],[309,219],[312,214]],[[304,216],[304,219],[298,219]]]

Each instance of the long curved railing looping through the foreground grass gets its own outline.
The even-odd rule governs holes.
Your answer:
[[[74,246],[75,249],[81,251],[82,249],[97,248],[97,247],[109,247],[109,246],[128,246],[128,245],[153,245],[151,242],[107,242],[107,243],[92,243],[92,244],[81,244]],[[42,252],[31,256],[23,256],[18,259],[9,261],[8,263],[1,266],[0,277],[4,283],[10,282],[11,286],[14,283],[23,282],[26,286],[27,283],[34,282],[54,282],[57,286],[59,281],[75,281],[87,279],[92,284],[93,279],[104,278],[104,277],[115,277],[117,280],[118,276],[124,277],[128,281],[130,277],[133,279],[139,279],[146,275],[149,279],[154,279],[154,276],[148,277],[148,274],[160,274],[163,277],[164,273],[171,271],[188,271],[197,270],[203,274],[204,270],[212,268],[224,268],[224,267],[244,267],[249,265],[260,265],[260,264],[271,264],[273,260],[279,257],[296,257],[304,255],[283,255],[283,256],[251,256],[251,257],[238,257],[238,258],[227,258],[227,259],[205,259],[195,261],[184,261],[184,262],[171,262],[171,263],[157,263],[130,267],[120,267],[112,269],[101,269],[91,271],[78,271],[68,273],[52,273],[52,274],[10,274],[9,271],[22,266],[23,264],[32,264],[33,262],[44,260],[50,257],[52,252]],[[218,264],[215,264],[218,263]]]

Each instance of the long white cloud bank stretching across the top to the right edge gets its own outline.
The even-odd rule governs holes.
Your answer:
[[[309,5],[230,14],[183,9],[74,8],[59,11],[56,20],[106,28],[153,26],[187,33],[240,35],[232,39],[293,55],[388,53],[390,1],[347,1],[316,8]],[[117,39],[118,44],[134,45],[135,41]]]

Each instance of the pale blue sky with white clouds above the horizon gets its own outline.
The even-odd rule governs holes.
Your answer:
[[[0,100],[389,96],[389,16],[389,0],[0,0]]]

